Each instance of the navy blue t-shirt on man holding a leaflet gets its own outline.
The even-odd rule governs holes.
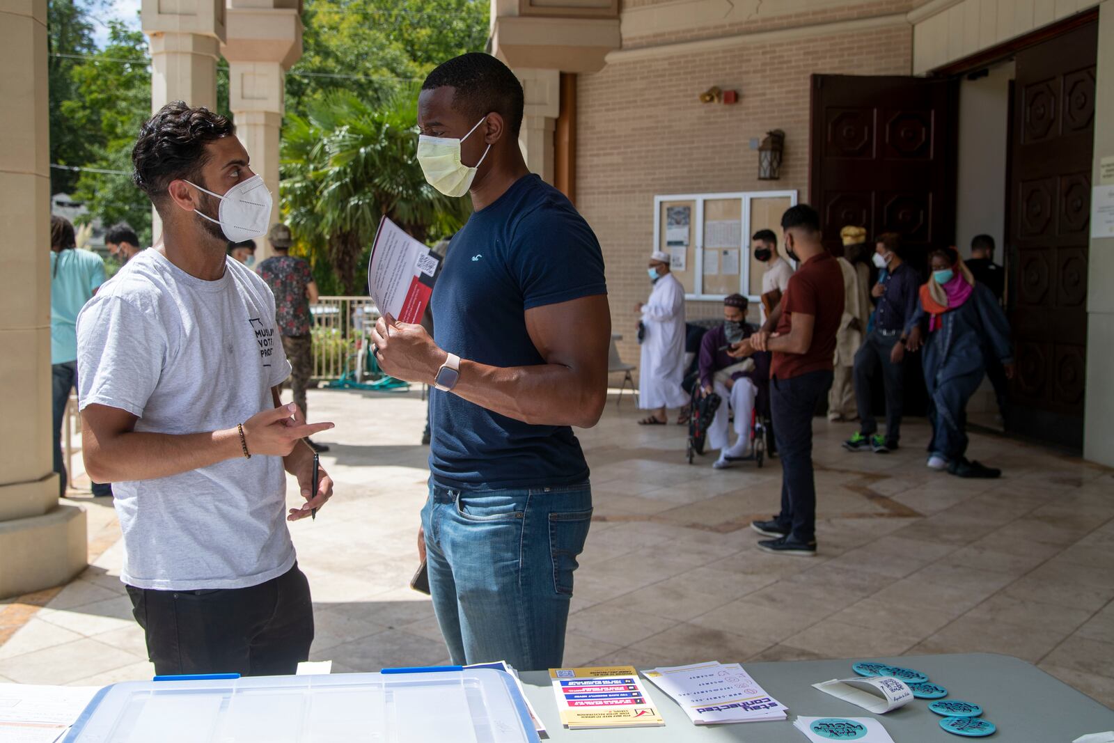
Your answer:
[[[526,311],[607,293],[604,256],[588,223],[534,174],[475,212],[449,248],[431,300],[433,338],[469,361],[544,364],[526,331]],[[531,426],[433,390],[430,427],[429,467],[444,487],[534,488],[588,479],[568,426]]]

